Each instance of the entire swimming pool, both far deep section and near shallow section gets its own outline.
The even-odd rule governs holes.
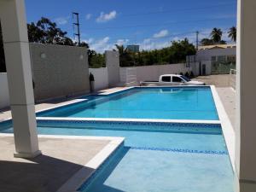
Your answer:
[[[107,96],[83,98],[86,101],[37,113],[44,117],[38,119],[39,134],[125,137],[124,146],[79,191],[234,191],[230,157],[218,121],[148,122],[218,120],[210,87],[135,87]],[[3,122],[0,132],[12,133],[13,128],[9,122]]]

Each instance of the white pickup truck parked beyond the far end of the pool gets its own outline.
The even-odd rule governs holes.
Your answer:
[[[189,78],[178,74],[161,75],[159,81],[142,81],[141,86],[168,86],[168,85],[205,85],[201,81],[192,81]]]

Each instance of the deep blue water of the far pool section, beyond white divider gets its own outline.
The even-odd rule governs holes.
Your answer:
[[[88,101],[38,113],[38,116],[218,119],[210,87],[133,88],[109,96],[87,96],[84,98]]]

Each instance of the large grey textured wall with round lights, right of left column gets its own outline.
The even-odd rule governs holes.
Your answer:
[[[36,101],[90,91],[85,48],[30,44],[30,52]]]

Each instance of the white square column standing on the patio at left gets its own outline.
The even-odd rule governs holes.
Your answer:
[[[32,158],[38,133],[24,0],[0,0],[0,18],[15,133],[16,157]]]

